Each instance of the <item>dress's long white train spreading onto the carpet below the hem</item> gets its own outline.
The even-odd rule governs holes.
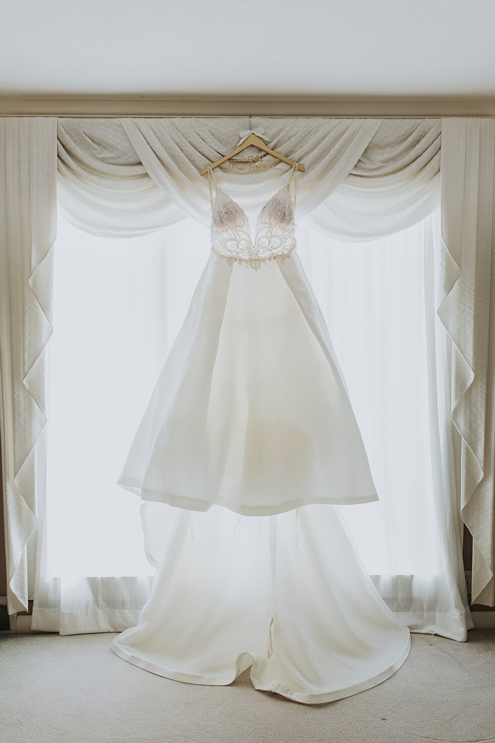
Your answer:
[[[338,507],[259,518],[146,507],[168,534],[137,626],[114,638],[126,661],[209,685],[251,667],[256,689],[321,704],[380,684],[406,660],[409,630],[373,586]]]

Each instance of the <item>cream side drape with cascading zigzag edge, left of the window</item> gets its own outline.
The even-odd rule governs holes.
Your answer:
[[[56,118],[0,119],[1,452],[7,602],[27,609],[27,542],[37,522],[52,332]]]

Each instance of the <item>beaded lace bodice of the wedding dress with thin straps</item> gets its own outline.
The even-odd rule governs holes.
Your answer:
[[[292,174],[295,173],[294,200],[290,193]],[[285,261],[295,250],[295,197],[298,163],[292,166],[286,186],[266,202],[258,215],[255,240],[246,212],[217,185],[212,169],[208,169],[210,201],[212,204],[212,252],[233,262],[255,270],[275,258]],[[213,199],[212,182],[215,186]]]

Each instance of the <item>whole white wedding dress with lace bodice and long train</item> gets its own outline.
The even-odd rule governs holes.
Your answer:
[[[410,635],[335,507],[378,496],[294,253],[297,172],[253,240],[209,169],[212,253],[118,480],[142,498],[157,572],[113,649],[194,684],[251,666],[257,689],[315,704],[389,678]]]

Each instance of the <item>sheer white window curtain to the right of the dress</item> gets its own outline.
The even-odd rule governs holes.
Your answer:
[[[410,629],[460,639],[467,609],[450,422],[451,342],[439,210],[372,242],[301,225],[300,254],[330,329],[379,502],[341,507],[376,588]]]

